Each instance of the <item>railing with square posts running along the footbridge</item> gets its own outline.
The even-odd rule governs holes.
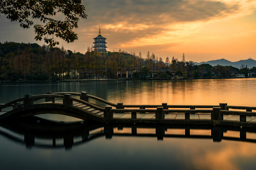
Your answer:
[[[73,96],[73,97],[72,97]],[[79,98],[78,98],[79,96]],[[55,103],[62,104],[66,106],[73,106],[73,102],[81,103],[95,110],[104,112],[103,119],[110,121],[114,118],[113,115],[116,113],[125,113],[131,114],[131,119],[138,119],[137,113],[143,114],[154,114],[154,118],[151,118],[152,121],[160,120],[159,122],[168,123],[164,120],[167,120],[165,117],[167,114],[185,114],[185,119],[175,119],[177,121],[189,121],[191,114],[208,114],[211,116],[211,121],[214,125],[235,125],[235,126],[245,126],[246,124],[256,124],[249,122],[247,117],[256,117],[256,107],[248,106],[229,106],[227,103],[220,103],[219,105],[168,105],[167,103],[162,103],[160,105],[124,105],[123,103],[112,103],[108,102],[99,97],[89,95],[86,92],[81,93],[72,93],[72,92],[61,92],[61,93],[48,93],[40,95],[31,95],[26,94],[25,97],[8,102],[6,104],[0,104],[0,111],[7,107],[12,107],[17,109],[20,107],[27,107],[34,105],[35,101],[43,100],[44,103]],[[98,106],[95,103],[89,102],[90,99],[96,100],[98,102],[105,103],[105,108]],[[56,101],[62,102],[56,102]],[[76,107],[76,106],[73,106]],[[114,107],[114,108],[112,108]],[[245,110],[245,111],[241,111]],[[239,116],[237,120],[225,120],[223,119],[224,115]],[[194,119],[193,119],[194,121]],[[200,121],[200,119],[198,119]],[[131,122],[131,121],[130,121]],[[189,123],[189,122],[186,122]],[[208,122],[209,123],[209,122]],[[255,126],[255,125],[253,125]]]

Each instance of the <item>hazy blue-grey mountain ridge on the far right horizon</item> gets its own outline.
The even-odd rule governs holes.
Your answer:
[[[244,66],[247,65],[247,68],[253,68],[256,67],[256,60],[254,59],[244,59],[244,60],[239,60],[236,62],[231,62],[227,59],[216,59],[216,60],[211,60],[211,61],[207,61],[207,62],[194,62],[196,65],[200,65],[200,64],[210,64],[212,66],[217,66],[218,64],[221,66],[233,66],[235,68],[240,68],[241,65],[243,64]]]

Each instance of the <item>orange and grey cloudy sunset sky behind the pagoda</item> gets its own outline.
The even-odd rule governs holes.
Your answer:
[[[196,62],[256,59],[256,0],[83,0],[87,19],[74,31],[78,40],[60,47],[85,53],[93,38],[106,38],[107,51],[148,51],[164,60]],[[20,28],[0,16],[0,42],[35,41],[34,28]],[[58,40],[58,39],[57,39]]]

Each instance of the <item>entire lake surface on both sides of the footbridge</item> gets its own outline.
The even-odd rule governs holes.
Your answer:
[[[256,78],[2,83],[0,103],[24,97],[28,93],[81,91],[124,104],[167,102],[218,105],[226,102],[228,105],[256,106]],[[254,170],[256,167],[256,143],[225,139],[213,142],[211,129],[207,128],[191,129],[190,135],[195,135],[193,138],[179,137],[184,136],[186,127],[165,128],[165,134],[169,134],[169,137],[157,140],[154,136],[157,131],[155,127],[137,127],[135,135],[132,134],[132,127],[113,127],[115,135],[109,137],[104,135],[106,127],[101,125],[69,125],[68,122],[73,118],[58,115],[46,115],[45,118],[63,120],[67,124],[56,127],[47,124],[45,130],[36,124],[0,124],[1,169]],[[44,123],[40,126],[44,126]],[[88,128],[94,130],[87,134]],[[239,137],[239,131],[223,131],[224,136]],[[34,136],[34,143],[31,136]],[[74,136],[71,143],[70,136]],[[247,132],[247,137],[256,139],[256,134]],[[31,141],[32,144],[29,143]]]

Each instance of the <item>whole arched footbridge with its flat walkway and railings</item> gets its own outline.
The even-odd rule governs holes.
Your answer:
[[[102,102],[106,107],[91,102]],[[243,111],[241,111],[243,110]],[[62,114],[100,123],[256,127],[256,107],[219,105],[124,105],[81,93],[26,94],[0,104],[0,121],[38,114]]]

